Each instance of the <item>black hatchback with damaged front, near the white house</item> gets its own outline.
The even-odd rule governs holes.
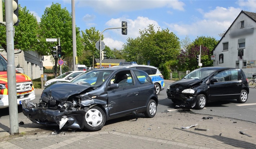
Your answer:
[[[202,67],[168,85],[167,97],[180,108],[203,109],[207,102],[248,99],[248,79],[242,69]]]

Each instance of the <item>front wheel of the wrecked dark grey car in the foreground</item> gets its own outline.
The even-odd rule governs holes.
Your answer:
[[[94,106],[85,113],[84,130],[98,131],[105,125],[106,115],[103,110]]]

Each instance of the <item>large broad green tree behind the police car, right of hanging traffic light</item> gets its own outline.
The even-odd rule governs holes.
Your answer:
[[[165,78],[169,77],[170,65],[177,64],[180,52],[179,38],[169,29],[158,29],[154,25],[140,31],[140,37],[127,39],[123,46],[126,61],[137,61],[138,64],[147,64],[158,67]]]

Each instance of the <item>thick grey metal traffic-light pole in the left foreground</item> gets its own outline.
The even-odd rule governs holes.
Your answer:
[[[9,98],[10,134],[19,134],[16,70],[14,63],[14,28],[12,0],[5,0],[7,79]]]

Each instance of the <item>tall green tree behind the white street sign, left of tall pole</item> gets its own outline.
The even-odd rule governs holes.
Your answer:
[[[41,53],[51,55],[52,47],[58,45],[58,42],[46,42],[46,38],[59,38],[62,49],[62,59],[73,56],[72,15],[66,8],[62,9],[60,4],[52,3],[50,7],[45,8],[39,25],[41,47],[39,51]],[[79,33],[79,28],[76,27],[76,52],[78,56],[82,55],[83,51]],[[70,58],[68,59],[70,60]],[[68,62],[68,64],[70,64],[70,62]]]

